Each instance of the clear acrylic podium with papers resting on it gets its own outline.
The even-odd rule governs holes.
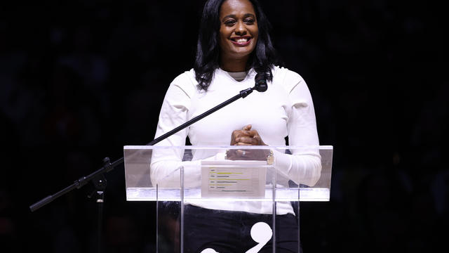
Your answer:
[[[300,252],[300,201],[329,201],[332,146],[123,148],[127,201],[156,201],[156,252]],[[267,157],[274,157],[268,159]]]

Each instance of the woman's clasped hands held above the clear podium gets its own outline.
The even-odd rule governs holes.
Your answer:
[[[251,129],[248,124],[241,130],[232,131],[231,145],[267,145],[262,141],[259,133],[255,129]],[[254,149],[232,149],[228,150],[226,159],[228,160],[266,160],[269,150]]]

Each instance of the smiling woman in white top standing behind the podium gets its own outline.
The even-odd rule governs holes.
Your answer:
[[[276,63],[269,22],[257,1],[207,1],[194,69],[180,74],[170,84],[156,137],[254,86],[257,73],[266,75],[268,89],[236,100],[159,145],[185,145],[187,136],[192,145],[286,145],[288,136],[290,145],[317,147],[319,139],[309,89],[299,74]],[[182,166],[185,185],[195,186],[201,181],[201,160],[239,160],[242,155],[245,153],[214,155],[197,150],[191,162],[182,162],[181,152],[154,152],[152,183],[163,187],[176,181],[176,175],[170,173]],[[291,155],[274,151],[270,155],[274,156],[276,173],[286,183],[291,180],[313,186],[318,181],[321,172],[318,148],[293,151]],[[190,204],[185,207],[185,252],[207,248],[220,253],[246,252],[257,245],[250,238],[251,226],[257,221],[271,224],[270,202]],[[283,226],[283,232],[276,233],[276,252],[299,252],[293,207],[289,202],[278,202],[276,215],[276,227]],[[270,241],[260,252],[271,250]]]

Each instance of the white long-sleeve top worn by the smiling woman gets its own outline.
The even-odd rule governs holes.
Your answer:
[[[285,179],[314,186],[321,174],[319,138],[316,131],[314,105],[307,84],[302,77],[286,68],[274,67],[273,81],[268,82],[267,91],[253,91],[246,98],[236,100],[225,108],[199,120],[187,129],[173,134],[157,145],[185,145],[186,137],[192,145],[229,145],[232,131],[248,124],[257,130],[267,145],[307,146],[293,150],[292,155],[274,153],[276,173]],[[255,71],[250,70],[246,78],[236,81],[228,72],[217,69],[208,91],[199,90],[194,70],[184,72],[170,84],[163,100],[156,138],[201,115],[215,105],[232,98],[239,91],[254,86]],[[182,162],[182,150],[158,150],[152,155],[151,180],[153,185],[179,181],[179,173],[173,171],[184,167],[185,186],[199,186],[201,183],[201,160],[220,159],[220,155],[196,150],[192,161]],[[272,214],[270,202],[192,202],[210,209],[244,211]],[[276,214],[293,213],[288,202],[278,202]]]

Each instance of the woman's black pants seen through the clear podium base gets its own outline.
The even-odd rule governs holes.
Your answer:
[[[211,248],[220,253],[244,253],[258,243],[250,230],[257,222],[273,229],[271,214],[253,214],[205,209],[186,205],[184,219],[184,252],[199,253]],[[276,252],[300,252],[298,223],[293,214],[276,216]],[[273,238],[259,252],[273,252]]]

